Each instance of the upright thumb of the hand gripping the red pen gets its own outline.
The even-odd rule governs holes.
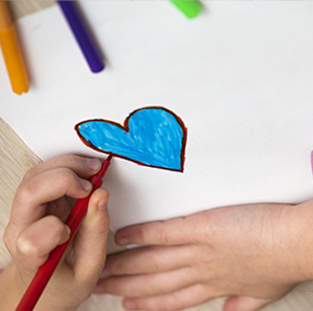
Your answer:
[[[110,218],[108,212],[109,191],[97,189],[88,206],[87,214],[76,234],[72,249],[74,273],[78,279],[97,282],[107,257],[107,240]]]

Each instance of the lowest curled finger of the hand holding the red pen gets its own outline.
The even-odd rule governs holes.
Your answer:
[[[49,215],[27,226],[18,237],[14,262],[26,274],[43,265],[49,253],[65,243],[70,230],[58,218]]]

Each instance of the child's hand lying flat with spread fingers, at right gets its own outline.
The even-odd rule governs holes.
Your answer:
[[[123,229],[118,244],[152,246],[108,257],[94,292],[123,296],[132,310],[225,296],[224,311],[258,310],[312,279],[312,204],[221,208]]]

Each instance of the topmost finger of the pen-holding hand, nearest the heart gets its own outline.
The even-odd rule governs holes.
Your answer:
[[[33,178],[43,171],[62,167],[75,171],[81,178],[89,178],[100,169],[101,162],[98,158],[86,158],[75,155],[60,156],[31,168],[25,174],[24,180]]]

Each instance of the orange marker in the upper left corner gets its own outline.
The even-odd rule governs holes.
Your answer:
[[[30,89],[26,67],[15,32],[4,1],[0,0],[0,45],[13,92],[22,95]]]

